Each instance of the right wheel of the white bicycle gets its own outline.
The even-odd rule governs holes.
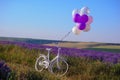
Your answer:
[[[68,71],[68,64],[63,58],[59,58],[51,62],[49,70],[57,76],[63,76]]]

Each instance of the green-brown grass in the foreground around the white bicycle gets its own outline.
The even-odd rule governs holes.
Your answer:
[[[40,53],[46,54],[47,51],[0,45],[0,60],[4,60],[12,70],[9,80],[120,80],[119,63],[106,64],[82,57],[65,56],[69,70],[63,77],[57,77],[48,70],[36,72],[34,65]]]

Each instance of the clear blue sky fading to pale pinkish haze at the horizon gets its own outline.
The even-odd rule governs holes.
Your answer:
[[[60,40],[75,26],[72,11],[84,6],[91,30],[65,40],[120,43],[120,0],[0,0],[0,36]]]

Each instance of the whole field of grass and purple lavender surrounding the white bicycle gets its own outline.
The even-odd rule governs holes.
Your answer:
[[[62,78],[47,72],[38,73],[34,69],[39,54],[46,54],[46,48],[52,48],[51,55],[56,55],[57,47],[30,44],[25,42],[0,41],[0,61],[7,66],[2,80],[119,80],[120,53],[90,49],[61,47],[61,56],[66,58],[69,71]],[[4,67],[4,65],[3,65]],[[8,75],[9,73],[9,75]]]

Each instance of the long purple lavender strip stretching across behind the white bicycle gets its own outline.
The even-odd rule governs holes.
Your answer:
[[[0,44],[15,44],[15,45],[26,47],[29,49],[52,48],[53,53],[57,53],[57,49],[58,49],[57,47],[36,45],[36,44],[23,43],[23,42],[0,41]],[[103,52],[103,51],[84,50],[84,49],[65,48],[65,47],[61,48],[60,53],[66,56],[86,57],[94,60],[100,60],[103,62],[112,62],[112,63],[120,62],[120,53],[110,53],[110,52]]]

